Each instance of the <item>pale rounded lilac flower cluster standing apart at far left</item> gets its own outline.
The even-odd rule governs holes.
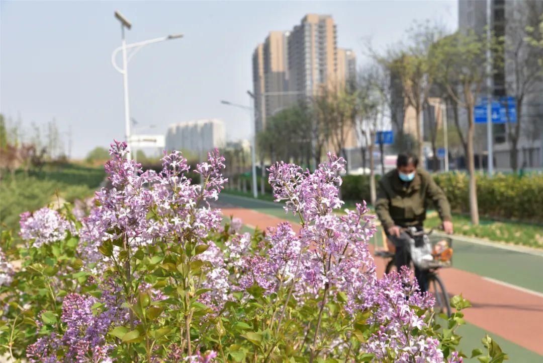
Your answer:
[[[20,217],[19,235],[26,241],[33,241],[34,247],[64,240],[68,231],[74,230],[72,224],[58,211],[47,207],[36,210],[34,213],[24,212]]]

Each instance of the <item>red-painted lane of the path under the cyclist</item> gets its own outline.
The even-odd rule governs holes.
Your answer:
[[[286,221],[245,208],[222,208],[222,211],[225,216],[241,218],[251,228],[265,229]],[[292,224],[294,230],[300,229],[299,224]],[[372,245],[370,249],[373,252]],[[376,264],[381,276],[385,261],[376,258]],[[465,310],[466,321],[543,355],[543,297],[456,268],[439,273],[450,295],[462,293],[471,302],[472,308]]]

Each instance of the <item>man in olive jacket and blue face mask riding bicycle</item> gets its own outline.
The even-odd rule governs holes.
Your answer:
[[[451,206],[441,188],[435,184],[430,173],[417,168],[418,158],[411,153],[400,153],[396,169],[379,181],[375,211],[387,237],[396,247],[394,256],[398,270],[411,263],[409,236],[404,228],[422,230],[426,219],[426,200],[431,199],[443,221],[445,233],[452,234]],[[422,292],[428,290],[427,270],[415,266],[415,278]]]

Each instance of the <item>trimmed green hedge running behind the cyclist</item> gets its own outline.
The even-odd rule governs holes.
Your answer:
[[[433,177],[445,191],[452,210],[469,213],[468,174],[451,172]],[[342,197],[346,201],[369,201],[369,176],[345,176]],[[492,178],[478,174],[477,201],[481,216],[543,223],[543,174],[496,174]]]

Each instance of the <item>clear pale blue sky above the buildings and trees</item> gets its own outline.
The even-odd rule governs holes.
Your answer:
[[[227,137],[250,133],[249,116],[219,103],[248,104],[251,54],[270,30],[289,30],[308,12],[331,14],[338,46],[362,64],[364,39],[386,47],[405,37],[414,20],[453,30],[456,1],[367,2],[7,2],[0,3],[0,111],[23,127],[56,119],[72,125],[72,156],[123,139],[122,76],[111,65],[121,42],[113,11],[133,24],[127,41],[171,33],[181,40],[143,48],[129,64],[131,116],[140,124],[218,117]]]

